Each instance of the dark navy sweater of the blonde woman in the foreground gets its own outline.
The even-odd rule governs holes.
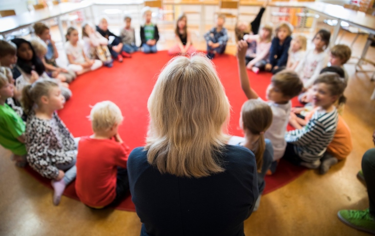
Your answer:
[[[225,172],[177,177],[150,166],[144,148],[134,149],[127,171],[141,236],[244,236],[258,197],[255,156],[227,145],[219,158]]]

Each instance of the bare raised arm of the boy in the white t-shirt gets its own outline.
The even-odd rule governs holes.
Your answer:
[[[240,75],[241,88],[248,99],[257,99],[258,94],[250,87],[248,72],[246,71],[245,55],[248,49],[246,41],[239,41],[237,43],[237,61]]]

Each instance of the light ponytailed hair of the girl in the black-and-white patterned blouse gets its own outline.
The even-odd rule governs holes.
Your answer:
[[[59,85],[51,79],[39,79],[33,84],[24,86],[21,97],[23,111],[29,114],[35,104],[40,105],[41,97],[48,96],[52,87],[59,87]]]

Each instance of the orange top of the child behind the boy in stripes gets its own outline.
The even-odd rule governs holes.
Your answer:
[[[305,121],[309,121],[312,114],[316,111],[317,107],[312,109],[311,112],[305,116]],[[352,135],[348,125],[344,119],[338,115],[338,123],[336,133],[333,136],[333,140],[327,147],[327,151],[336,157],[338,160],[345,159],[349,153],[353,150]]]

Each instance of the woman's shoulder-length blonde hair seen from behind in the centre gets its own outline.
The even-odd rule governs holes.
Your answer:
[[[224,172],[219,156],[229,101],[214,65],[204,54],[171,59],[147,103],[147,161],[161,173],[204,177]]]

